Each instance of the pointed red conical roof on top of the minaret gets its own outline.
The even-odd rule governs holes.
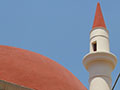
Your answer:
[[[96,27],[106,28],[99,2],[97,3],[97,8],[96,8],[96,13],[95,13],[95,18],[94,18],[92,29]]]

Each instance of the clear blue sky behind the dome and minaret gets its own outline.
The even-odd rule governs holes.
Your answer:
[[[0,0],[0,44],[47,56],[71,71],[87,88],[82,59],[89,52],[89,32],[100,0]],[[118,58],[113,82],[120,72],[120,0],[100,1]],[[120,84],[120,80],[118,82]],[[115,90],[120,90],[117,85]]]

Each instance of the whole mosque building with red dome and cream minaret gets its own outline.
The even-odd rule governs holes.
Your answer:
[[[87,90],[70,71],[45,56],[2,45],[0,51],[0,90]],[[90,52],[83,58],[89,72],[89,90],[111,90],[116,63],[98,2],[90,31]]]

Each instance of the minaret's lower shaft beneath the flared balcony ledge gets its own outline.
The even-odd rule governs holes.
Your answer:
[[[112,67],[109,63],[101,60],[91,63],[88,71],[90,90],[111,90]]]

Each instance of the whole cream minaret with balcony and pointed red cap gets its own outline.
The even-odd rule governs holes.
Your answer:
[[[109,33],[98,2],[90,32],[90,52],[83,59],[89,72],[89,90],[111,90],[111,72],[116,63],[117,59],[109,49]]]

